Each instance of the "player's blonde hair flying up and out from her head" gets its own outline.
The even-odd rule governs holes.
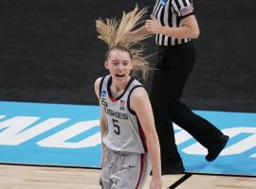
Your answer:
[[[129,41],[127,40],[127,35],[137,25],[142,23],[142,18],[146,13],[147,8],[139,10],[136,6],[134,10],[128,13],[123,12],[122,18],[119,21],[116,18],[107,18],[106,23],[101,19],[96,21],[96,28],[100,34],[98,38],[108,44],[109,50],[106,53],[106,59],[108,58],[109,52],[114,49],[127,51],[134,62],[132,74],[137,75],[137,71],[139,71],[144,79],[146,79],[149,71],[149,56],[142,56],[144,48],[143,44],[139,42],[151,35],[135,36],[133,39],[129,39]]]

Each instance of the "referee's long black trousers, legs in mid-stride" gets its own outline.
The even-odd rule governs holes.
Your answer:
[[[175,145],[172,122],[187,130],[206,148],[221,143],[223,133],[180,101],[194,62],[195,49],[192,42],[158,46],[158,69],[153,77],[150,96],[160,142],[162,167],[181,161]]]

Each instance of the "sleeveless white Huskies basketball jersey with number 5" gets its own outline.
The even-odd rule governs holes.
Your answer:
[[[137,87],[143,87],[135,78],[131,78],[124,92],[113,98],[110,75],[101,79],[100,103],[106,132],[102,140],[105,146],[115,151],[144,153],[147,151],[144,132],[137,119],[136,112],[130,108],[130,95]]]

